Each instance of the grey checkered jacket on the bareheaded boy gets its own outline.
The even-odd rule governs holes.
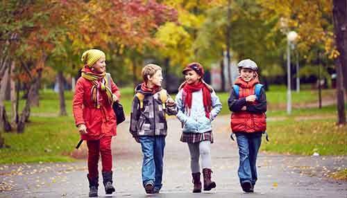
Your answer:
[[[142,91],[141,84],[135,88],[136,93],[144,94],[144,107],[140,109],[139,99],[134,96],[133,105],[130,114],[130,133],[133,136],[166,136],[167,135],[167,120],[165,113],[168,115],[176,115],[176,105],[162,109],[162,100],[160,93],[152,94]],[[167,98],[170,98],[167,95]]]

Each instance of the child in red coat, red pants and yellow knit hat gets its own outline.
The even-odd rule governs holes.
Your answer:
[[[117,122],[112,102],[120,93],[112,78],[107,78],[105,53],[97,49],[85,51],[82,77],[77,80],[72,102],[74,118],[82,140],[87,141],[89,197],[98,196],[99,155],[101,154],[103,185],[106,195],[115,192],[112,186],[111,139],[116,135]]]

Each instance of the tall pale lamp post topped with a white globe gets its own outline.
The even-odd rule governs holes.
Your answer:
[[[298,34],[290,31],[287,34],[287,114],[291,114],[291,69],[290,69],[290,48]]]

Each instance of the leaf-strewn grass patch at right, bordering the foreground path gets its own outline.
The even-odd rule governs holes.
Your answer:
[[[347,126],[339,127],[334,119],[287,120],[268,122],[270,142],[262,150],[282,154],[346,155]]]

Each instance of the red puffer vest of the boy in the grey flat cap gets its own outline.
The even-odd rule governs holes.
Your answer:
[[[237,78],[235,84],[239,86],[239,99],[246,98],[254,93],[255,84],[259,83],[258,78],[250,82],[244,82],[242,78]],[[257,104],[257,101],[248,103]],[[230,126],[232,132],[265,132],[266,131],[266,116],[262,114],[252,114],[248,111],[232,112],[230,117]]]

